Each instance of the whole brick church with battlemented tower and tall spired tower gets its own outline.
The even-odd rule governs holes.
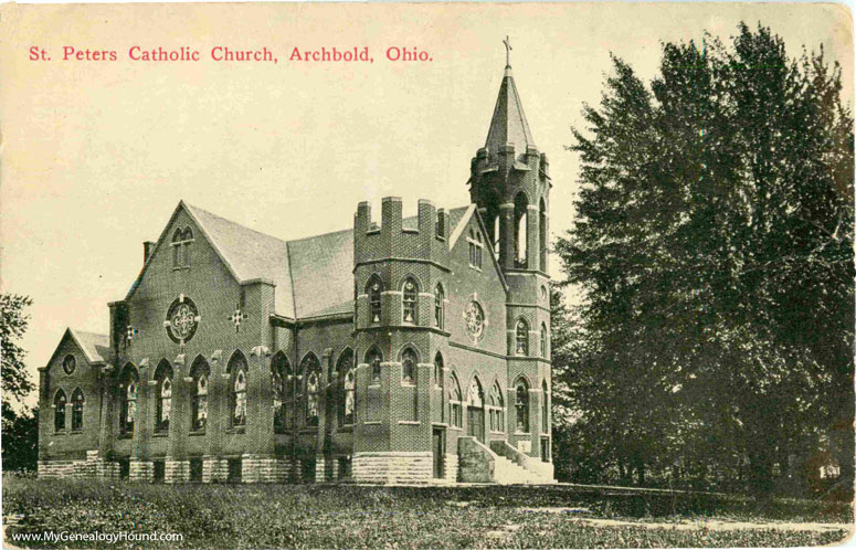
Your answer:
[[[180,202],[40,369],[39,476],[552,482],[548,167],[507,65],[467,205],[287,241]]]

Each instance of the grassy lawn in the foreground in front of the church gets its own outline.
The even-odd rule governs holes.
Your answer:
[[[3,476],[23,548],[792,547],[842,541],[849,506],[583,487],[162,486]],[[625,491],[626,493],[626,491]],[[741,522],[751,521],[746,526]],[[784,522],[814,522],[789,527]],[[759,525],[763,522],[763,525]],[[21,533],[180,533],[181,541],[23,542]]]

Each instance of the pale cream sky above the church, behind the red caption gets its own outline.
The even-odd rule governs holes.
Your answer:
[[[107,332],[179,200],[292,240],[352,226],[359,201],[468,202],[511,65],[535,142],[550,159],[551,241],[573,221],[584,129],[610,54],[645,80],[662,44],[728,42],[740,21],[781,35],[792,56],[825,49],[853,105],[853,22],[818,3],[91,4],[0,7],[0,290],[30,296],[27,363],[66,327]],[[128,51],[187,46],[199,62]],[[63,60],[64,47],[116,61]],[[215,62],[215,46],[267,47],[277,62]],[[373,63],[289,61],[369,47]],[[50,61],[31,60],[42,49]],[[390,47],[431,61],[390,61]],[[39,56],[39,55],[36,55]],[[109,54],[107,54],[109,56]],[[553,277],[561,277],[551,262]],[[319,274],[323,275],[323,274]]]

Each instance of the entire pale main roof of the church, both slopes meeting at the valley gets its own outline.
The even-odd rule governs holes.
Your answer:
[[[276,284],[277,315],[303,319],[353,311],[353,229],[282,241],[183,205],[239,281]],[[467,208],[448,211],[450,234]],[[416,216],[402,220],[402,225],[415,229]]]

